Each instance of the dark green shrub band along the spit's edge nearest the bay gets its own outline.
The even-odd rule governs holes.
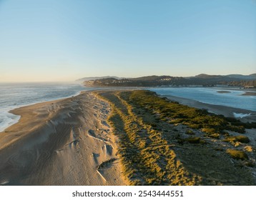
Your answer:
[[[225,131],[245,133],[245,128],[256,128],[256,124],[245,124],[237,119],[210,114],[206,110],[195,109],[162,99],[152,91],[134,91],[129,102],[135,107],[142,106],[158,113],[160,119],[168,119],[172,124],[184,124],[192,129],[202,129],[207,134],[225,134]]]

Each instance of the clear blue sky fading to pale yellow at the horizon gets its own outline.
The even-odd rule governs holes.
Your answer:
[[[0,0],[0,81],[255,72],[255,0]]]

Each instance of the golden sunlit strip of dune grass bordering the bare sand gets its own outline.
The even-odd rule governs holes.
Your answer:
[[[200,176],[184,169],[171,149],[172,144],[164,138],[162,131],[154,129],[150,116],[142,119],[134,114],[134,107],[124,101],[129,94],[102,92],[100,96],[112,102],[109,122],[119,136],[119,155],[130,184],[199,184]]]

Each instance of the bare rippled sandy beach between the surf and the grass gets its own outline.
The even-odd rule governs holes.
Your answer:
[[[109,112],[92,92],[11,111],[21,119],[0,133],[0,185],[126,185]]]

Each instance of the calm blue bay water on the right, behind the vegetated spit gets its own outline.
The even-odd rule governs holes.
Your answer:
[[[217,87],[171,87],[149,89],[157,94],[179,96],[186,99],[200,101],[206,104],[230,106],[238,109],[256,111],[256,96],[242,96],[246,91]],[[227,91],[220,93],[218,91]]]

